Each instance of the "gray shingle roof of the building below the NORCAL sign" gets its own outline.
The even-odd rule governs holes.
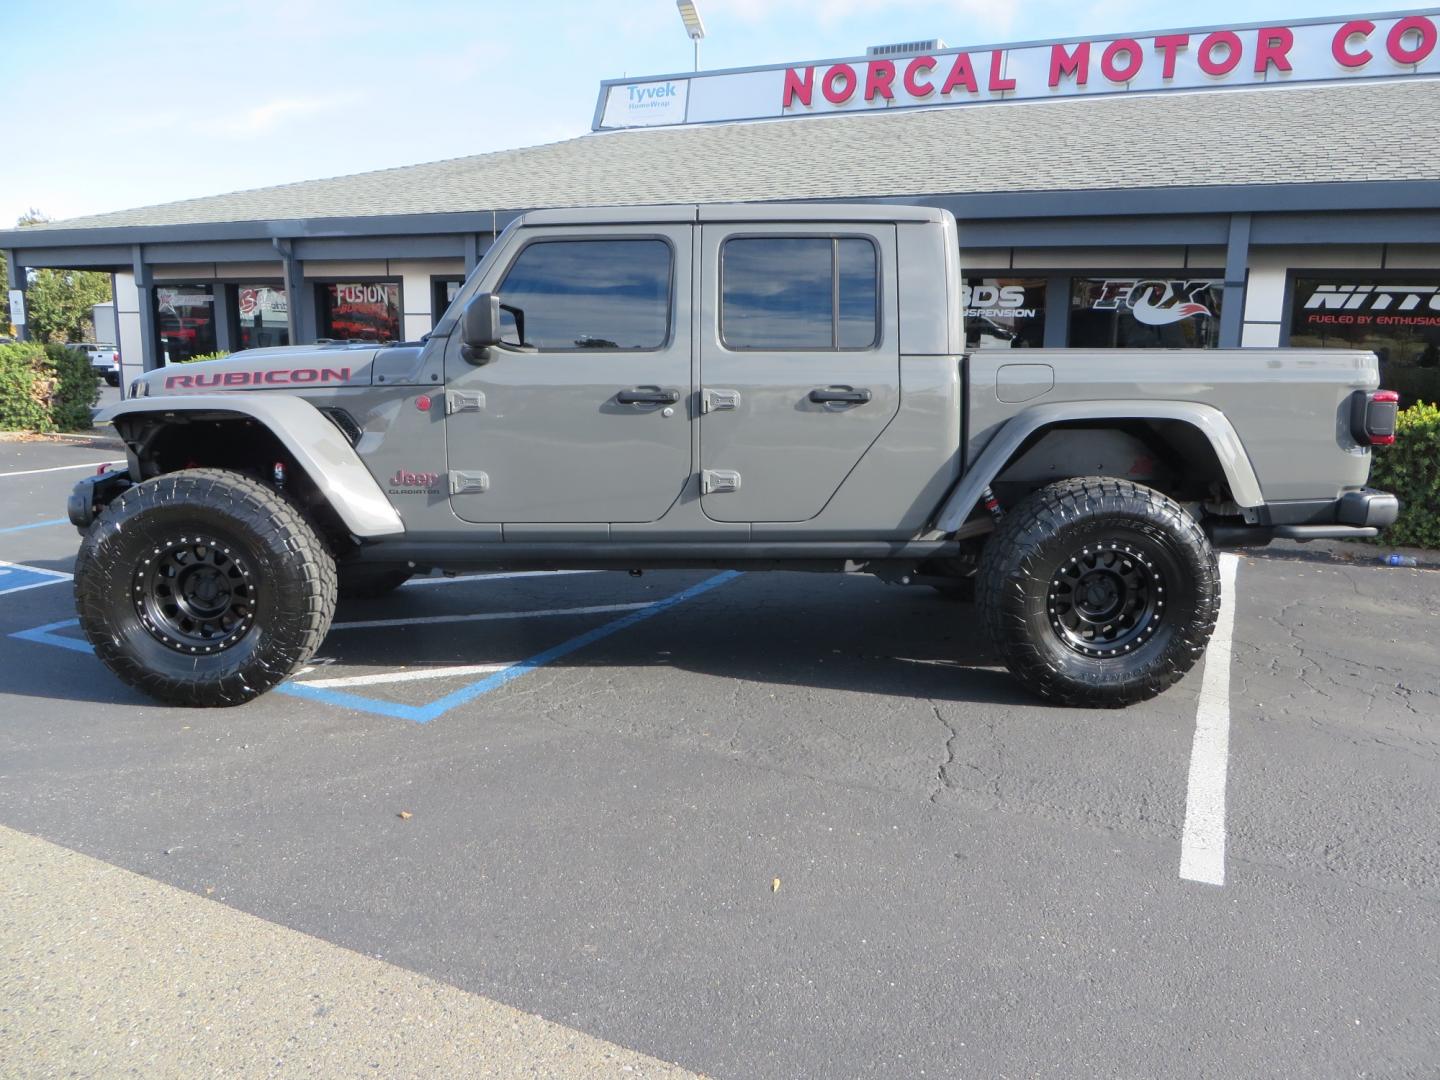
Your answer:
[[[1440,179],[1440,81],[649,128],[40,229],[559,206]]]

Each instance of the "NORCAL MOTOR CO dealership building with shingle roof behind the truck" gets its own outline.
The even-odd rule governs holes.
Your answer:
[[[415,340],[540,207],[870,200],[959,219],[971,348],[1361,344],[1440,396],[1440,10],[605,82],[521,150],[0,232],[104,271],[127,380]]]

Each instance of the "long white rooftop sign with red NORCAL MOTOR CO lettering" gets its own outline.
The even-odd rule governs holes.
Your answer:
[[[615,79],[595,130],[1440,75],[1440,10]]]

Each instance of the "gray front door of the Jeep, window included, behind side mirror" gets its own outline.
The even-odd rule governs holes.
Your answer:
[[[465,521],[654,521],[691,477],[690,225],[527,229],[488,289],[504,343],[445,354]],[[685,302],[680,302],[684,298]],[[521,325],[523,324],[523,325]]]

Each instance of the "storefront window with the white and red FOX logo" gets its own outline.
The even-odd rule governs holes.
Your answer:
[[[1217,348],[1224,282],[1211,278],[1074,278],[1076,348]]]

